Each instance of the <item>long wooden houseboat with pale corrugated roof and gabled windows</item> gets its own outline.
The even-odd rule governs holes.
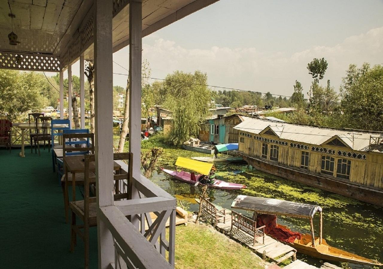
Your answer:
[[[255,168],[383,206],[383,132],[254,118],[234,129],[238,154]]]

